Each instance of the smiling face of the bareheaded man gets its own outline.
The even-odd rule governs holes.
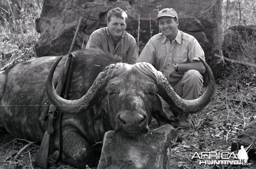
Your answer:
[[[120,17],[116,16],[111,16],[110,21],[107,22],[107,26],[111,38],[114,40],[118,40],[125,32],[125,19],[121,19]]]

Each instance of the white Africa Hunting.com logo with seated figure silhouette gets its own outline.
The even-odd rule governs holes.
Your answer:
[[[242,166],[251,166],[251,163],[248,163],[248,154],[247,149],[244,149],[241,146],[241,149],[237,152],[195,152],[192,156],[192,159],[198,159],[199,164],[204,165],[242,165]]]

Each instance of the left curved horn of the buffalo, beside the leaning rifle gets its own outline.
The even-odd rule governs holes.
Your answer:
[[[78,100],[66,100],[56,93],[52,83],[55,68],[57,67],[60,60],[61,60],[61,57],[59,57],[55,61],[55,63],[52,65],[50,69],[47,82],[46,82],[46,91],[47,91],[48,98],[52,102],[52,104],[54,104],[56,108],[58,108],[60,111],[63,111],[66,113],[77,113],[82,110],[87,110],[88,108],[90,108],[95,103],[95,101],[97,101],[97,98],[102,96],[99,93],[101,89],[103,89],[106,86],[107,82],[110,79],[125,72],[131,66],[124,63],[116,63],[116,64],[111,64],[107,66],[104,69],[104,71],[102,71],[97,76],[92,86],[83,97],[81,97]]]

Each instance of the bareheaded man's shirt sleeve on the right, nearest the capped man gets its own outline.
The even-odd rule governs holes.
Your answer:
[[[126,52],[126,63],[135,64],[138,58],[137,46],[134,37],[130,39],[129,49]]]

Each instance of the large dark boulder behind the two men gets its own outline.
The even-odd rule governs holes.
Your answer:
[[[44,0],[41,16],[36,19],[36,30],[41,35],[36,46],[37,56],[66,54],[80,16],[84,19],[73,50],[84,48],[94,30],[106,27],[107,12],[114,7],[128,14],[127,32],[135,39],[140,14],[140,49],[158,33],[155,20],[158,8],[174,8],[179,17],[179,29],[198,39],[215,77],[218,75],[222,60],[214,54],[222,54],[221,0]]]

